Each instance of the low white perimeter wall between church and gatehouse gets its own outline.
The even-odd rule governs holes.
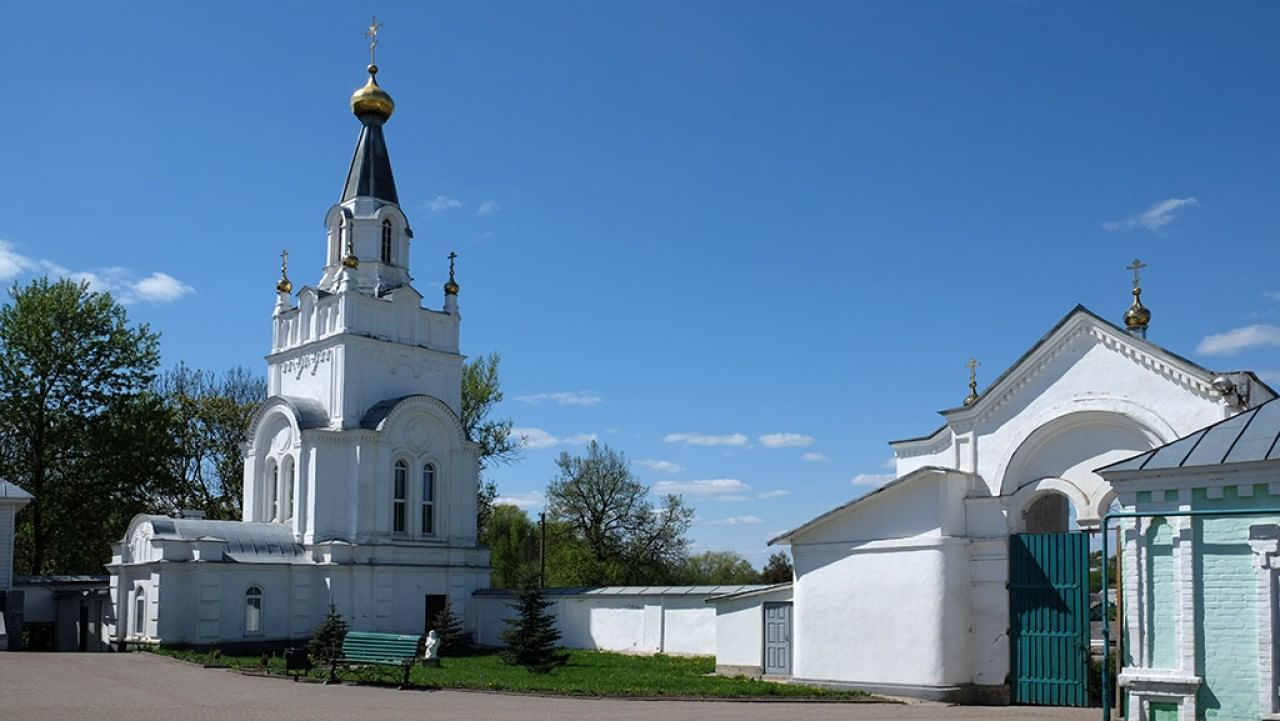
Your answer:
[[[710,595],[550,595],[566,648],[621,653],[716,653],[716,608]],[[504,619],[515,617],[513,595],[476,595],[476,640],[503,645]]]

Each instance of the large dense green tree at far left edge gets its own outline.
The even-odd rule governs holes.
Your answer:
[[[169,417],[151,392],[159,336],[87,283],[41,278],[0,307],[0,478],[20,572],[101,572],[109,544],[173,492]]]

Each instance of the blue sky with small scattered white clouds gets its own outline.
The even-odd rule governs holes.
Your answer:
[[[989,380],[1078,302],[1119,320],[1134,256],[1151,339],[1280,377],[1265,3],[13,5],[0,279],[91,273],[166,364],[265,368],[372,13],[416,284],[438,304],[460,254],[465,352],[532,429],[507,497],[594,435],[760,562],[970,356]]]

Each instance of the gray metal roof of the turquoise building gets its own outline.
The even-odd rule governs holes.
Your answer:
[[[1098,473],[1157,471],[1280,458],[1280,398],[1202,428],[1190,435],[1098,469]]]

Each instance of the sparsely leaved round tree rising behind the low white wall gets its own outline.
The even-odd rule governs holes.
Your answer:
[[[694,516],[678,496],[654,505],[626,457],[595,441],[585,456],[561,453],[556,464],[547,514],[584,543],[586,583],[660,583],[678,569]]]

